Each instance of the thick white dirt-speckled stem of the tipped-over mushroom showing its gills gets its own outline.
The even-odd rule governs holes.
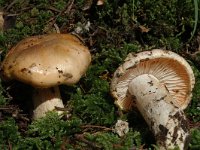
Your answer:
[[[130,82],[128,91],[160,149],[187,148],[189,129],[186,117],[182,110],[170,103],[172,97],[164,84],[150,74],[143,74]]]

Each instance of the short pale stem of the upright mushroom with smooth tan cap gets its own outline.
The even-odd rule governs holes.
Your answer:
[[[33,105],[33,119],[44,117],[46,112],[55,110],[55,107],[64,108],[59,87],[34,89]],[[58,111],[58,113],[62,112]]]

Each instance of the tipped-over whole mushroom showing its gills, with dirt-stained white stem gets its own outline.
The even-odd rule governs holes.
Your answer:
[[[127,56],[114,73],[111,94],[121,110],[137,107],[160,149],[185,149],[189,128],[183,110],[191,100],[194,83],[184,58],[154,49]]]

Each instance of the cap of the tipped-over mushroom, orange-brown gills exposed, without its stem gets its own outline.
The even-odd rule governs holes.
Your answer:
[[[172,51],[153,49],[138,54],[130,53],[114,73],[111,94],[121,110],[130,110],[134,98],[128,92],[129,83],[137,76],[150,74],[164,84],[175,107],[185,109],[192,96],[195,78],[187,61]]]

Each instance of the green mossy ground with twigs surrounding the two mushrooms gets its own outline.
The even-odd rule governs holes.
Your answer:
[[[138,112],[120,114],[109,92],[110,80],[130,52],[152,48],[179,54],[185,54],[186,49],[196,52],[200,29],[198,16],[194,18],[197,5],[194,7],[191,0],[105,1],[103,6],[83,0],[12,2],[0,1],[7,15],[6,30],[0,33],[1,60],[25,37],[56,32],[55,25],[61,33],[74,32],[89,21],[89,31],[83,29],[79,35],[91,50],[92,64],[78,84],[60,87],[67,108],[63,118],[50,112],[31,121],[31,88],[1,81],[0,149],[156,149],[154,137]],[[89,9],[83,10],[86,6]],[[189,149],[199,149],[200,68],[192,57],[188,61],[196,78],[192,102],[185,111],[191,125]],[[121,138],[112,132],[119,118],[130,126]]]

